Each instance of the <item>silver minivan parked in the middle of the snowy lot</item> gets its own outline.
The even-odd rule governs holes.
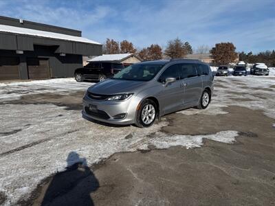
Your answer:
[[[89,87],[83,97],[83,117],[148,127],[168,113],[207,108],[213,80],[210,67],[199,60],[140,62]]]

